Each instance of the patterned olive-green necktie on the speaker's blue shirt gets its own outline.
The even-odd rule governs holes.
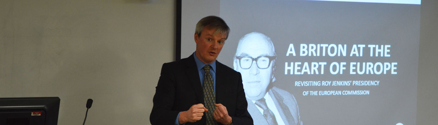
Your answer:
[[[216,96],[213,85],[213,78],[210,74],[210,65],[204,66],[204,83],[202,84],[202,91],[204,92],[204,107],[208,109],[205,113],[206,125],[217,125],[213,118],[213,111],[215,110]]]

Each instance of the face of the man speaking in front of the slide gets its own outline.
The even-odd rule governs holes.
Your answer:
[[[194,41],[196,42],[196,56],[202,63],[213,63],[222,50],[225,44],[226,34],[220,32],[214,34],[216,29],[204,27],[201,36],[194,33]]]

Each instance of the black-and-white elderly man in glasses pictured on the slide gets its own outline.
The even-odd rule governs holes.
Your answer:
[[[237,45],[233,67],[242,73],[248,111],[254,125],[302,125],[295,97],[273,87],[276,52],[271,38],[252,32]]]

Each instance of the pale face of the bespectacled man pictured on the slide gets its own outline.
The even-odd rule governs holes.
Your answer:
[[[273,46],[262,37],[249,37],[237,48],[236,56],[274,56]],[[246,97],[257,101],[265,96],[269,83],[273,78],[274,61],[270,60],[266,69],[258,68],[256,61],[252,61],[249,69],[242,69],[240,60],[234,59],[234,69],[242,74]],[[244,67],[245,68],[245,67]]]

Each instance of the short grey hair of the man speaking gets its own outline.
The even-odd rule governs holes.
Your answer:
[[[213,34],[221,33],[226,34],[226,38],[228,38],[228,34],[230,34],[230,28],[228,25],[226,25],[225,21],[223,21],[222,18],[216,17],[216,16],[208,16],[204,17],[201,20],[198,21],[198,24],[196,24],[195,33],[198,34],[198,37],[201,36],[202,30],[205,28],[211,28],[216,29],[216,31]]]

